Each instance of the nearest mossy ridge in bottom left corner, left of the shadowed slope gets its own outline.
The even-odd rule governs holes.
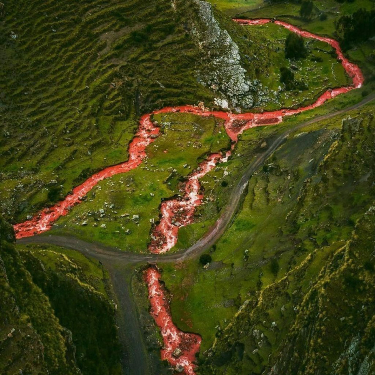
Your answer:
[[[14,246],[12,227],[0,217],[0,372],[4,375],[80,374],[69,331],[54,315]]]

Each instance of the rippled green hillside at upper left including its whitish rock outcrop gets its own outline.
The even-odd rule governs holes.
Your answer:
[[[8,220],[24,220],[93,172],[126,160],[139,115],[151,109],[201,101],[214,105],[218,97],[245,107],[269,102],[278,108],[281,99],[298,105],[320,93],[310,87],[294,93],[297,101],[288,92],[279,98],[279,71],[272,64],[288,64],[276,52],[286,32],[273,40],[273,30],[241,27],[202,4],[5,3],[0,197]],[[270,49],[269,40],[280,46]],[[338,77],[328,71],[327,87],[347,83],[330,51],[321,52],[318,45],[310,51],[336,64]],[[308,74],[305,81],[318,74],[308,73],[310,65],[300,67]],[[265,75],[269,81],[262,87],[258,83]],[[251,93],[246,100],[241,87]]]

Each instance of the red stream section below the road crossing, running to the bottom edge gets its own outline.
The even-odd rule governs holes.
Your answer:
[[[173,323],[169,304],[165,299],[163,287],[159,283],[160,274],[153,267],[145,271],[145,281],[150,300],[150,314],[160,329],[164,346],[160,351],[161,359],[167,360],[175,368],[183,368],[186,375],[194,375],[195,354],[199,352],[201,336],[180,331]],[[176,349],[181,352],[173,354]]]

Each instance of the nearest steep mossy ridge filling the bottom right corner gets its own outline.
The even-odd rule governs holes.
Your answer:
[[[269,375],[374,373],[374,214],[372,206],[297,306]]]

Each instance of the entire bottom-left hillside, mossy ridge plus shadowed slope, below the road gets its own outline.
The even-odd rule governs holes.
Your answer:
[[[56,246],[16,249],[0,220],[1,374],[122,374],[99,264]]]

